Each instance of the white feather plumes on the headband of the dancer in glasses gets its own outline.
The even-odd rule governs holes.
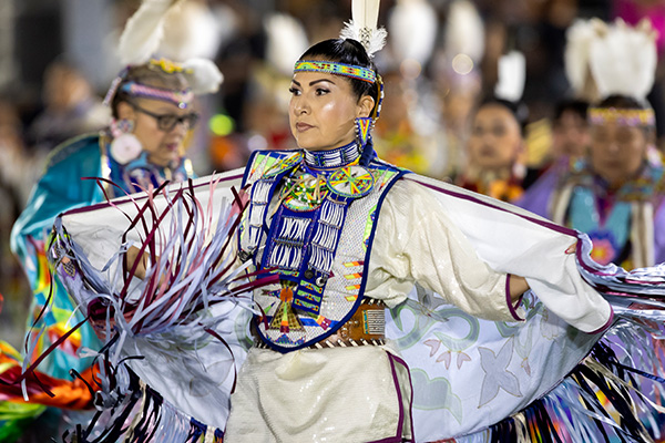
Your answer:
[[[141,7],[127,20],[120,37],[117,54],[124,65],[144,64],[158,56],[167,17],[171,13],[177,13],[177,8],[184,1],[143,0]],[[191,54],[182,54],[182,56],[184,59]],[[223,76],[211,60],[186,59],[173,60],[173,62],[181,64],[194,94],[208,94],[219,89]]]

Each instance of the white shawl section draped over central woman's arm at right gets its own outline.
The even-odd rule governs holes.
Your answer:
[[[611,323],[610,302],[582,278],[575,255],[566,254],[580,241],[576,231],[428,177],[411,174],[405,182],[426,188],[437,203],[432,207],[446,214],[487,266],[524,277],[538,298],[562,320],[584,332],[596,332]]]

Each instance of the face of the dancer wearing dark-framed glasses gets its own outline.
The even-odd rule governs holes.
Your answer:
[[[182,117],[192,115],[191,109],[181,110],[174,103],[161,100],[134,99],[132,104],[120,103],[117,111],[120,119],[134,122],[134,135],[151,163],[167,166],[184,154],[184,140],[191,125]],[[165,116],[181,120],[170,130],[160,127],[158,120],[167,120]]]

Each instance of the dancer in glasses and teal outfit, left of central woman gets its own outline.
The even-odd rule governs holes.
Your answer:
[[[195,95],[214,92],[221,74],[209,61],[178,64],[152,59],[150,54],[160,39],[153,39],[147,47],[135,44],[136,34],[146,24],[146,13],[161,29],[165,12],[173,4],[171,0],[149,3],[130,20],[121,39],[121,59],[126,68],[106,95],[105,103],[113,116],[109,128],[99,134],[83,134],[54,151],[12,229],[12,249],[23,264],[33,290],[27,336],[29,358],[24,359],[23,370],[37,356],[48,354],[38,371],[49,380],[45,384],[50,389],[59,387],[60,392],[55,399],[33,396],[34,403],[89,406],[90,393],[81,393],[73,385],[68,392],[66,387],[71,383],[70,370],[84,372],[91,363],[91,359],[80,358],[79,352],[100,347],[90,326],[82,322],[85,312],[74,309],[60,279],[48,269],[47,238],[55,216],[73,207],[156,188],[166,181],[194,177],[184,153],[188,133],[198,119],[194,111]],[[137,54],[139,49],[146,51]],[[71,326],[80,322],[80,328],[68,333]],[[3,367],[0,374],[3,381],[0,399],[18,401],[17,396],[22,395],[16,383],[20,380],[22,358],[9,352],[9,348],[4,350],[0,363],[9,363],[9,369]],[[6,385],[7,382],[14,385]],[[28,414],[41,412],[39,408],[29,409]],[[10,425],[6,423],[6,432]]]

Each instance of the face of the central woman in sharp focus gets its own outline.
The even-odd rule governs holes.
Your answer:
[[[355,119],[369,116],[374,100],[356,97],[351,83],[341,75],[297,72],[291,80],[289,124],[298,146],[327,151],[356,138]]]

